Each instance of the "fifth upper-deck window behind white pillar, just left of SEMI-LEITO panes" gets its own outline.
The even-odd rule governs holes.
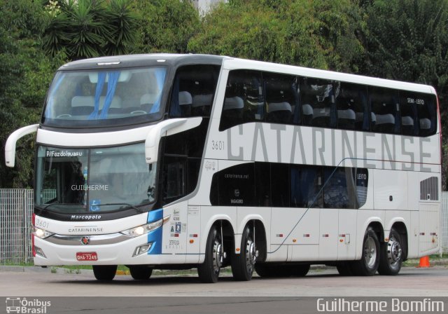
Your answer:
[[[388,88],[369,88],[369,96],[372,131],[399,134],[398,91]]]

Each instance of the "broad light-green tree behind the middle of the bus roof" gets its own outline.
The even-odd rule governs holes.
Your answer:
[[[348,71],[363,53],[359,20],[349,0],[235,0],[204,18],[188,49]]]

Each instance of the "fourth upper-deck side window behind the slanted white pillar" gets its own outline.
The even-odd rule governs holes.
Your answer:
[[[367,86],[340,82],[336,108],[337,128],[370,130]]]

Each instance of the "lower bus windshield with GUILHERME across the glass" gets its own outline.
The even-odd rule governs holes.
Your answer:
[[[36,207],[66,214],[140,211],[155,200],[156,168],[146,164],[143,143],[96,149],[39,146]]]

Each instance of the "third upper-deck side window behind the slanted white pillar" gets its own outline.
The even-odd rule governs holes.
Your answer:
[[[335,93],[331,81],[317,78],[300,79],[302,119],[304,125],[335,127]]]

